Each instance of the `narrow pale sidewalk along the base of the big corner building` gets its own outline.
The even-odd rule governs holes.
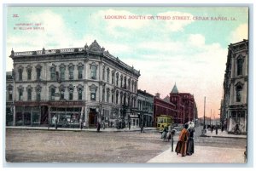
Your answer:
[[[83,128],[82,130],[80,128],[57,128],[54,127],[26,127],[26,126],[6,126],[5,128],[11,128],[11,129],[32,129],[32,130],[51,130],[51,131],[92,131],[96,132],[96,128]],[[148,130],[156,130],[156,128],[153,127],[146,127],[144,128],[145,131]],[[141,128],[101,128],[100,132],[131,132],[131,131],[141,131]]]

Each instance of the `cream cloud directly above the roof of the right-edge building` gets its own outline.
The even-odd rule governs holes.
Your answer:
[[[237,43],[243,39],[248,39],[248,24],[242,24],[230,33],[230,42]]]

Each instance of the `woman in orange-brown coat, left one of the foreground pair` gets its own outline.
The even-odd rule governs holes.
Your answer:
[[[187,153],[187,141],[189,139],[189,131],[187,130],[188,127],[188,124],[184,124],[184,128],[179,134],[177,145],[175,148],[177,155],[180,153],[182,157],[185,157]]]

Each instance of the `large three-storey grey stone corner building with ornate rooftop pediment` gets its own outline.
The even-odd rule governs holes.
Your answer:
[[[127,123],[140,72],[96,41],[84,48],[14,52],[14,125]]]

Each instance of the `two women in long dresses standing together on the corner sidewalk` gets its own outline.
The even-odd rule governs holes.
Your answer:
[[[195,125],[192,122],[185,123],[184,128],[179,134],[175,152],[181,154],[182,157],[192,155],[194,153],[194,133]]]

